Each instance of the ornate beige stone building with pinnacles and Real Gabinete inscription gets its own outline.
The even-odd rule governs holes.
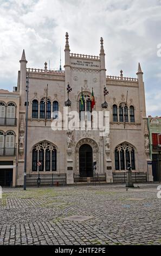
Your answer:
[[[99,56],[70,53],[68,33],[65,45],[65,71],[35,69],[27,67],[23,51],[18,72],[18,93],[20,93],[21,147],[18,150],[17,185],[23,184],[24,170],[24,123],[26,76],[29,77],[28,151],[27,173],[67,174],[67,183],[73,183],[73,174],[93,175],[93,162],[96,173],[106,173],[108,182],[113,181],[113,173],[122,173],[130,163],[132,172],[147,172],[149,147],[146,145],[147,119],[143,72],[138,65],[137,78],[108,75],[105,66],[103,39],[100,40]],[[110,131],[100,136],[99,130],[57,130],[51,129],[53,120],[58,119],[58,111],[63,113],[67,101],[67,85],[71,105],[68,111],[104,111],[110,114]],[[106,101],[104,87],[108,94]],[[92,104],[92,88],[95,97]],[[127,94],[128,91],[128,94]],[[83,95],[83,101],[82,101]],[[105,104],[103,104],[105,102]],[[67,104],[67,102],[66,102]],[[103,105],[102,105],[103,104]],[[54,111],[53,117],[51,113]],[[85,117],[85,123],[88,119]],[[91,117],[90,117],[91,118]],[[63,120],[65,117],[63,117]],[[40,162],[40,166],[37,166]],[[149,180],[152,172],[149,169]]]

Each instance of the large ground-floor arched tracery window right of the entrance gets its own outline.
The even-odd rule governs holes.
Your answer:
[[[114,150],[115,170],[126,170],[127,163],[130,163],[132,170],[135,167],[134,148],[126,143],[120,144]]]

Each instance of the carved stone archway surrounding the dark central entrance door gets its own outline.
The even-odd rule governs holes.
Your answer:
[[[79,150],[83,144],[87,144],[92,148],[92,160],[96,161],[96,172],[100,172],[100,164],[99,164],[99,146],[92,138],[82,138],[76,144],[75,147],[75,173],[79,173]]]

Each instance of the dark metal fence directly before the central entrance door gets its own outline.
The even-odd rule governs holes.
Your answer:
[[[81,174],[74,173],[74,182],[106,182],[106,173],[96,173],[92,177],[84,177]]]

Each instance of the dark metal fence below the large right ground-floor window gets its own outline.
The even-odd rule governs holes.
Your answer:
[[[125,183],[127,181],[126,172],[122,173],[113,173],[113,183]],[[147,174],[146,173],[132,173],[132,181],[133,182],[147,182]]]

